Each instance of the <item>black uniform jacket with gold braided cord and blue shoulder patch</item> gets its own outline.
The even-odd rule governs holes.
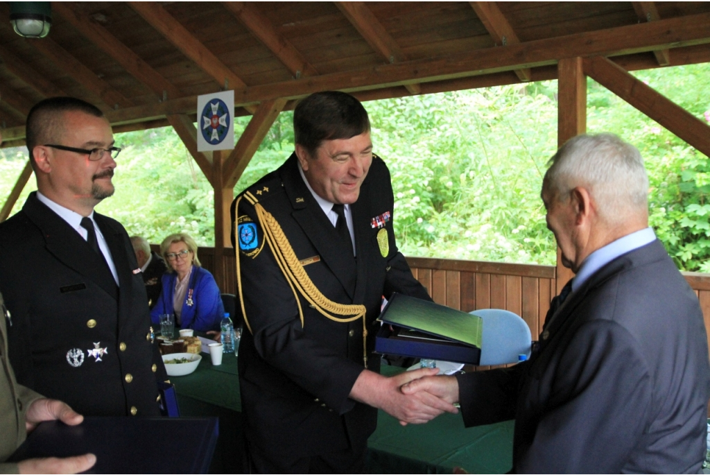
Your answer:
[[[307,189],[295,154],[245,193],[273,214],[325,297],[366,307],[368,368],[378,372],[379,356],[371,351],[382,296],[397,291],[430,299],[395,245],[393,192],[385,163],[373,158],[359,199],[351,205],[356,259],[352,246],[339,241]],[[363,320],[328,320],[299,295],[301,324],[294,293],[264,243],[255,208],[244,195],[232,204],[233,221],[238,201],[239,236],[232,239],[236,237],[241,259],[241,295],[251,327],[239,347],[246,437],[273,459],[293,460],[348,447],[357,453],[377,422],[375,409],[349,399],[364,369]],[[373,221],[386,213],[381,224]]]

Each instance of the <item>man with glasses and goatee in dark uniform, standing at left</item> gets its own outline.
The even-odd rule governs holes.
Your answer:
[[[140,268],[124,227],[94,212],[114,192],[111,126],[79,99],[45,99],[27,146],[38,191],[0,224],[17,381],[84,415],[159,415],[165,367]]]

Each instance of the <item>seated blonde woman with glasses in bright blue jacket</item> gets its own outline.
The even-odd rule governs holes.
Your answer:
[[[175,327],[219,329],[222,295],[212,274],[200,266],[195,239],[186,233],[170,234],[160,244],[160,253],[172,271],[163,274],[163,291],[151,310],[153,323],[160,324],[160,315],[174,313]]]

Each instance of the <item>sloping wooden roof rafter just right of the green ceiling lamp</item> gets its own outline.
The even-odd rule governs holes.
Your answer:
[[[53,1],[52,9],[68,21],[84,38],[104,50],[114,58],[124,70],[135,77],[139,82],[146,84],[158,98],[163,99],[163,94],[170,99],[182,96],[178,87],[175,87],[165,77],[158,74],[147,62],[143,61],[136,53],[124,43],[113,36],[99,23],[92,21],[88,16],[72,9],[70,4],[63,1]]]

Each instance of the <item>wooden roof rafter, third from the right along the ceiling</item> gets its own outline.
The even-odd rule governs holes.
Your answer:
[[[407,56],[403,53],[402,48],[392,36],[387,33],[387,30],[377,17],[372,13],[368,6],[363,1],[337,1],[337,7],[342,11],[345,18],[348,19],[352,26],[360,33],[360,36],[366,40],[370,48],[379,53],[387,62],[403,62],[407,61]],[[404,84],[411,94],[420,94],[421,89],[419,84],[408,83]]]

